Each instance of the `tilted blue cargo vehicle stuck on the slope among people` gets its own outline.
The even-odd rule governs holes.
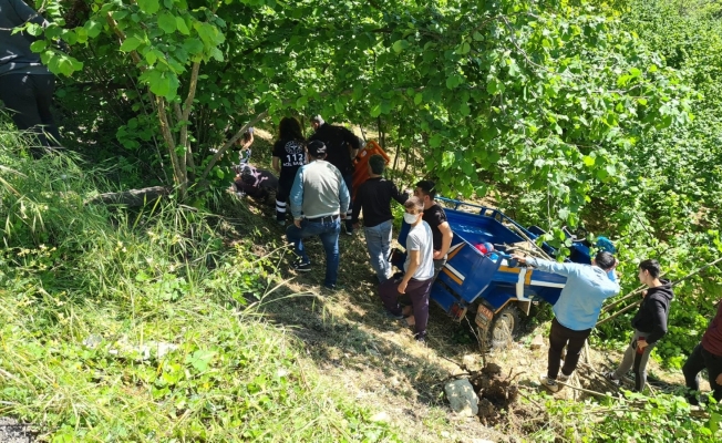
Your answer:
[[[454,233],[446,266],[431,289],[431,299],[461,322],[467,316],[478,328],[483,346],[499,348],[510,342],[519,327],[520,315],[528,316],[532,303],[554,305],[566,284],[566,277],[517,266],[510,253],[515,249],[540,248],[555,257],[557,250],[547,244],[533,243],[544,231],[525,228],[497,209],[464,202],[440,198]],[[461,210],[461,208],[465,210]],[[405,228],[405,229],[404,229]],[[399,243],[405,244],[404,224]],[[571,239],[569,261],[590,264],[590,245],[586,239]],[[613,249],[608,240],[598,245]]]

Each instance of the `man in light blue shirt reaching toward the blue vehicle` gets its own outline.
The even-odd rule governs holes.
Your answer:
[[[542,271],[567,277],[567,284],[554,305],[555,318],[549,332],[549,363],[547,375],[542,379],[542,384],[549,391],[557,392],[559,390],[557,375],[559,381],[566,382],[577,368],[581,348],[591,329],[597,324],[601,303],[619,293],[619,284],[613,278],[617,259],[607,251],[598,253],[591,260],[591,266],[560,264],[533,257],[515,256],[515,258]],[[561,350],[565,346],[567,356],[559,374]]]

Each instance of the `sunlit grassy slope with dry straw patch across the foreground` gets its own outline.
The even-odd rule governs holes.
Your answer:
[[[555,403],[558,418],[577,408],[567,422],[542,409],[545,349],[529,351],[527,336],[491,357],[517,374],[518,408],[497,430],[454,416],[443,382],[462,371],[450,360],[476,369],[476,347],[435,307],[427,348],[389,321],[360,236],[341,239],[345,289],[319,292],[322,271],[285,270],[271,207],[233,200],[209,218],[171,206],[110,213],[82,204],[95,183],[72,163],[0,155],[25,174],[3,171],[12,187],[0,187],[12,227],[3,234],[23,245],[0,259],[0,415],[29,420],[49,440],[553,441],[584,413]],[[268,143],[254,157],[267,165]],[[309,249],[320,269],[320,244]],[[251,305],[238,309],[244,299]],[[158,343],[177,349],[159,356]]]

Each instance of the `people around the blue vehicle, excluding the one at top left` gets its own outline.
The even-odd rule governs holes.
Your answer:
[[[312,120],[313,128],[327,126],[320,116]],[[333,127],[333,126],[328,126]],[[347,130],[348,131],[348,130]],[[349,131],[350,133],[350,131]],[[295,245],[298,261],[293,269],[311,270],[310,259],[303,248],[302,239],[318,235],[327,257],[324,286],[334,289],[339,267],[340,220],[345,219],[347,233],[359,229],[363,215],[363,230],[370,265],[379,280],[378,293],[386,315],[393,319],[412,318],[414,338],[425,341],[429,321],[429,296],[431,286],[446,262],[453,233],[446,220],[444,209],[435,202],[435,184],[421,181],[413,196],[401,193],[390,181],[383,178],[385,161],[380,155],[369,158],[369,179],[357,189],[354,202],[350,200],[353,173],[351,161],[359,148],[348,142],[342,132],[324,130],[322,134],[338,134],[336,138],[326,136],[327,142],[311,138],[305,144],[300,125],[295,119],[281,121],[281,137],[274,148],[274,167],[279,171],[279,197],[277,215],[285,220],[285,195],[290,195],[290,209],[293,224],[287,228],[287,238]],[[352,134],[351,134],[352,135]],[[358,138],[353,136],[358,143]],[[336,152],[334,158],[344,157],[342,168],[327,157],[331,157],[329,146]],[[308,163],[305,155],[308,154]],[[300,157],[298,155],[300,154]],[[286,173],[285,173],[286,171]],[[281,188],[288,189],[287,194]],[[391,205],[396,202],[404,207],[404,222],[410,225],[406,236],[406,258],[403,271],[393,275],[390,262],[393,215]],[[349,217],[350,214],[350,217]],[[350,218],[350,219],[349,219]],[[350,225],[350,228],[348,227]],[[597,323],[605,300],[619,293],[615,268],[615,256],[606,250],[599,251],[589,265],[556,262],[534,257],[514,256],[527,266],[567,277],[559,299],[554,305],[555,318],[549,332],[547,373],[542,384],[551,392],[559,390],[576,370],[581,349]],[[648,259],[639,264],[639,281],[648,287],[642,292],[642,302],[631,321],[633,328],[629,346],[619,367],[606,373],[606,378],[619,385],[621,378],[630,370],[635,373],[635,391],[641,392],[647,381],[647,363],[652,349],[667,333],[667,322],[671,301],[674,298],[672,286],[661,279],[657,260]],[[408,306],[402,306],[402,302]],[[566,354],[563,353],[566,348]],[[699,392],[699,373],[706,369],[714,399],[722,400],[722,303],[714,320],[710,323],[702,342],[694,349],[683,372],[690,389],[689,401],[697,404],[694,392]]]

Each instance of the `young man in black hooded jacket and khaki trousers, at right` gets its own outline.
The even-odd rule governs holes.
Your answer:
[[[605,374],[607,380],[619,384],[621,378],[635,370],[635,391],[642,392],[647,382],[647,362],[657,342],[667,333],[669,306],[674,298],[672,286],[661,280],[659,261],[649,259],[639,264],[639,281],[649,289],[642,292],[642,303],[631,321],[635,329],[625,357],[616,371]]]

